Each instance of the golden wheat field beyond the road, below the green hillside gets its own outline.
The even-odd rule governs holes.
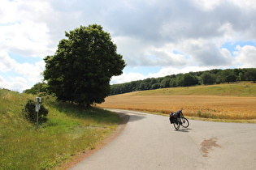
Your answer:
[[[163,90],[162,90],[163,91]],[[109,96],[101,108],[170,113],[184,108],[184,115],[220,119],[256,119],[255,96],[157,95],[161,92],[131,92]]]

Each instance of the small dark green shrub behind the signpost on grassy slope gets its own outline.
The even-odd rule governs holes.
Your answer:
[[[37,113],[36,113],[36,103],[33,100],[28,100],[27,104],[24,107],[24,115],[31,122],[37,122]],[[38,112],[38,123],[43,123],[47,121],[48,109],[41,104],[41,108]]]

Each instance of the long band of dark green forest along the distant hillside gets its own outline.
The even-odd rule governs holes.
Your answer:
[[[160,78],[148,78],[111,85],[110,95],[132,91],[145,91],[167,87],[189,87],[200,84],[233,83],[237,81],[256,81],[256,69],[227,69],[189,72],[186,74],[171,74]]]

